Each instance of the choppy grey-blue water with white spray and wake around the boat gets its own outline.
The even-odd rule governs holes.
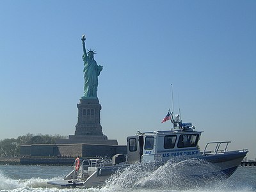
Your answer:
[[[210,175],[201,180],[183,177],[183,171],[193,173],[194,165],[195,162],[186,161],[169,163],[157,170],[134,165],[113,175],[106,186],[90,189],[56,188],[47,184],[49,180],[62,179],[72,170],[72,166],[0,165],[0,191],[256,191],[256,167],[239,167],[228,179],[223,179],[221,175]],[[209,168],[207,164],[200,167],[202,170]]]

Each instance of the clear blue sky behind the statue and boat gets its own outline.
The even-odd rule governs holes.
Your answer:
[[[125,144],[172,108],[256,157],[256,1],[0,1],[0,139],[74,134],[81,36],[104,68],[101,125]]]

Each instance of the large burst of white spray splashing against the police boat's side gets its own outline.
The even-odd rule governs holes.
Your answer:
[[[120,189],[163,189],[190,190],[205,184],[223,180],[215,167],[200,159],[180,162],[167,161],[162,166],[156,163],[136,163],[118,170],[107,181],[104,188]],[[210,182],[209,182],[210,181]]]

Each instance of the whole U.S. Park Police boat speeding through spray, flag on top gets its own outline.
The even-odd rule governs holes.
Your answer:
[[[74,162],[74,170],[63,180],[47,182],[61,187],[93,188],[103,186],[117,170],[131,164],[155,164],[156,169],[167,162],[181,162],[196,159],[211,165],[211,170],[193,166],[193,172],[182,173],[186,176],[200,177],[211,172],[211,175],[234,173],[248,153],[247,149],[228,150],[231,141],[214,141],[206,144],[200,151],[198,141],[202,131],[196,131],[191,123],[182,123],[179,115],[168,112],[165,120],[171,120],[173,127],[170,131],[140,132],[127,137],[127,154],[116,154],[112,159],[81,159]],[[182,175],[182,177],[184,177]]]

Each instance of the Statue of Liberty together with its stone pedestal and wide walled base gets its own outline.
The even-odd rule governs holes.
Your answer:
[[[102,66],[94,60],[95,51],[86,52],[85,35],[82,36],[83,61],[84,61],[84,94],[81,97],[78,108],[78,118],[74,135],[68,139],[56,141],[56,145],[26,145],[21,146],[20,156],[67,156],[67,157],[95,157],[115,154],[126,154],[125,145],[118,145],[117,140],[108,140],[102,133],[100,125],[101,105],[97,97],[98,77]]]

